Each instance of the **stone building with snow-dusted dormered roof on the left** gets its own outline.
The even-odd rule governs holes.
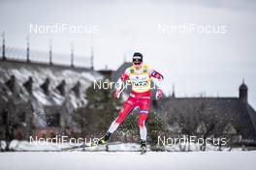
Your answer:
[[[0,60],[0,140],[79,132],[72,113],[101,77],[90,69]]]

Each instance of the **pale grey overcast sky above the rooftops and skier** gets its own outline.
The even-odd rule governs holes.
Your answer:
[[[48,49],[50,39],[53,50],[63,53],[70,53],[71,42],[79,55],[88,55],[93,46],[97,70],[115,70],[140,51],[144,63],[165,75],[165,92],[171,93],[175,84],[178,97],[238,97],[244,78],[256,108],[255,14],[253,0],[4,0],[0,31],[6,32],[8,46],[24,47],[28,34],[35,49]],[[56,23],[94,26],[96,31],[93,36],[30,33],[31,24]],[[186,24],[209,25],[215,32],[170,29]]]

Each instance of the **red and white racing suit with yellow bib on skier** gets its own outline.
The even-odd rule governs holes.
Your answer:
[[[132,92],[130,93],[129,98],[123,103],[117,118],[112,122],[112,125],[108,130],[109,132],[112,133],[116,128],[118,128],[127,114],[135,107],[139,107],[140,115],[138,118],[138,125],[140,127],[140,135],[142,140],[146,140],[146,128],[144,126],[144,121],[146,120],[150,105],[151,77],[154,77],[157,80],[157,82],[155,81],[155,84],[159,87],[160,82],[163,80],[162,74],[148,68],[147,65],[143,65],[140,70],[136,70],[132,66],[121,74],[117,82],[118,87],[116,92],[121,92],[122,85],[126,80],[130,80]]]

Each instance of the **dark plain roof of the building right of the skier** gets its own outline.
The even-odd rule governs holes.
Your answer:
[[[256,112],[239,98],[168,98],[158,105],[170,125],[180,123],[195,132],[204,122],[215,135],[232,125],[243,138],[256,139]]]

